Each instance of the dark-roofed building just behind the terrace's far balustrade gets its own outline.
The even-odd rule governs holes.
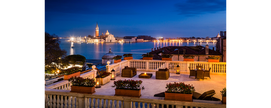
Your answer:
[[[201,45],[197,46],[167,46],[163,48],[158,48],[150,52],[153,54],[153,60],[162,60],[162,54],[171,54],[173,55],[172,61],[184,61],[183,55],[195,55],[194,61],[204,61],[208,62],[208,56],[222,56],[220,52],[212,49],[209,49],[208,45],[205,47]],[[221,58],[220,58],[221,61]]]

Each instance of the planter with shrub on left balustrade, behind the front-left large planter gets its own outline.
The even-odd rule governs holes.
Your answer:
[[[71,77],[79,76],[80,75],[80,68],[79,67],[72,67],[63,70],[60,74],[64,75],[64,80],[68,80]]]

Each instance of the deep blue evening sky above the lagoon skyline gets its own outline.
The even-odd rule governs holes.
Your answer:
[[[59,37],[215,37],[226,31],[226,0],[45,0],[45,31]]]

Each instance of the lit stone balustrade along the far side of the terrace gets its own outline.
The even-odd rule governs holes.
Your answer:
[[[226,62],[198,62],[198,61],[164,61],[164,60],[141,60],[141,59],[131,59],[122,60],[119,63],[114,63],[107,65],[108,72],[112,69],[116,71],[117,74],[121,73],[124,66],[137,68],[139,71],[157,71],[158,69],[168,68],[170,72],[176,72],[177,65],[180,66],[180,72],[190,72],[196,69],[196,66],[202,66],[203,69],[209,70],[210,73],[221,73],[226,74]]]

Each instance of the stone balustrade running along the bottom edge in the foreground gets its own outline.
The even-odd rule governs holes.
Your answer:
[[[69,93],[45,89],[45,108],[226,108],[226,105]],[[173,107],[172,107],[173,108]]]

